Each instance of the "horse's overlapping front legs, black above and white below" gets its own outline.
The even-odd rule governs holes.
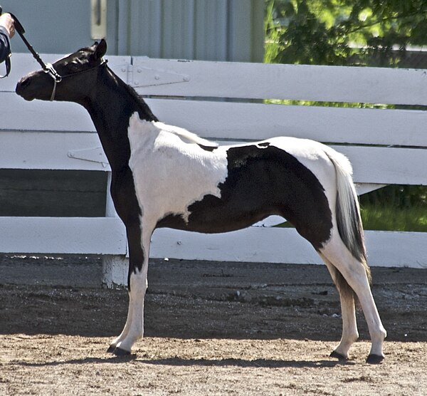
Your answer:
[[[139,225],[127,227],[129,308],[125,328],[108,348],[108,352],[115,355],[129,355],[132,345],[144,335],[144,299],[148,287],[147,271],[151,234],[151,232],[147,233],[144,238]]]

